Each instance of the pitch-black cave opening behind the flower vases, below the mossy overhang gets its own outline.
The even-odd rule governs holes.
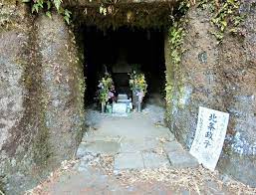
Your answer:
[[[145,75],[145,102],[162,103],[165,86],[164,31],[121,27],[101,31],[96,26],[83,29],[86,102],[94,102],[99,80],[106,72],[113,77],[118,94],[131,97],[128,73]]]

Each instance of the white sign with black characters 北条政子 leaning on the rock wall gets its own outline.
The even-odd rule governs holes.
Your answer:
[[[226,135],[229,113],[199,107],[196,132],[190,153],[204,167],[214,170]]]

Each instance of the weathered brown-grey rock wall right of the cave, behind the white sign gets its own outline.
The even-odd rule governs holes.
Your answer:
[[[184,38],[181,64],[176,69],[166,56],[167,79],[174,83],[169,127],[187,148],[196,129],[199,106],[230,113],[218,169],[256,186],[256,12],[244,3],[247,14],[241,35],[226,34],[222,44],[210,32],[210,11],[192,8]],[[166,54],[169,48],[166,44]],[[173,71],[174,70],[174,71]],[[171,78],[172,77],[172,78]],[[246,174],[245,174],[246,173]]]

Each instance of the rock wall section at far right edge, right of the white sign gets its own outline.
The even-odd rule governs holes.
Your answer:
[[[256,187],[256,8],[244,4],[244,38],[227,37],[220,56],[226,98],[231,114],[219,168]],[[239,171],[238,171],[239,170]]]

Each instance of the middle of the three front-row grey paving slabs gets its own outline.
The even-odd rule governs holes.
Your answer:
[[[169,160],[166,156],[159,155],[152,152],[143,152],[142,158],[145,168],[158,168],[162,166],[170,166]]]

